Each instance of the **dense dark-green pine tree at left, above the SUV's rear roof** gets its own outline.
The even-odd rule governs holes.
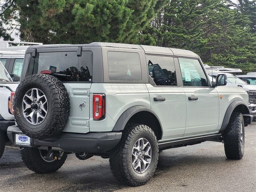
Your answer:
[[[58,43],[126,42],[140,40],[155,13],[168,0],[8,0],[6,21],[18,11],[20,38]]]

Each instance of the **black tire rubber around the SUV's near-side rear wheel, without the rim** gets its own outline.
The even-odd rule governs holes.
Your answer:
[[[137,173],[131,163],[131,153],[139,138],[146,138],[152,148],[152,161],[144,173]],[[153,177],[158,163],[158,141],[152,129],[142,124],[128,124],[118,145],[110,151],[110,169],[120,182],[131,186],[146,184]]]

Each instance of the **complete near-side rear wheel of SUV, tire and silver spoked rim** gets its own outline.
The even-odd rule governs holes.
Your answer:
[[[120,181],[132,186],[146,184],[156,171],[158,142],[146,125],[129,124],[119,144],[110,152],[110,168]]]

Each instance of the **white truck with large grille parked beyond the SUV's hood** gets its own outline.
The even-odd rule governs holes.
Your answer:
[[[219,72],[208,72],[208,74],[214,78],[218,74],[223,74]],[[236,77],[233,74],[224,73],[227,76],[227,86],[238,86],[243,88],[249,95],[249,109],[250,114],[254,116],[254,119],[256,118],[256,85],[250,85],[246,83],[244,80],[241,80],[240,78]]]

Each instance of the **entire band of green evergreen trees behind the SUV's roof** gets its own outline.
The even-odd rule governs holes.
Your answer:
[[[182,48],[205,64],[256,71],[256,0],[5,0],[0,16],[16,20],[25,41]]]

